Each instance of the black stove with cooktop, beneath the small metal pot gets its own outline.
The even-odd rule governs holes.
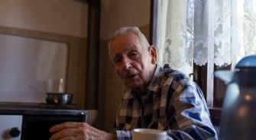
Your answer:
[[[21,140],[49,139],[52,135],[50,127],[62,122],[87,122],[87,110],[78,110],[77,104],[0,102],[0,116],[21,116],[21,127],[10,126],[5,129],[7,132],[8,129],[15,128],[16,132],[19,129]]]

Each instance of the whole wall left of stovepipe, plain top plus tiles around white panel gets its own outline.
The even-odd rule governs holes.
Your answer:
[[[73,0],[0,0],[0,33],[69,45],[66,91],[84,108],[88,5]]]

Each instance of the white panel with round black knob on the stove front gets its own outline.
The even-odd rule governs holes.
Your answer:
[[[21,127],[22,127],[22,116],[0,115],[0,139],[20,140]]]

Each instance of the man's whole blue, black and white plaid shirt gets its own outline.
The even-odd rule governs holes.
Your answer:
[[[116,118],[118,140],[131,140],[131,130],[167,131],[175,139],[217,139],[200,88],[190,78],[157,65],[151,84],[139,96],[125,92]]]

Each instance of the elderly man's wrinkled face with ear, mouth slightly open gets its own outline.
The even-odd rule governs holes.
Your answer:
[[[134,90],[143,90],[154,74],[152,48],[142,46],[138,36],[125,33],[112,40],[109,53],[112,64],[123,83]],[[155,49],[153,50],[155,51]],[[156,59],[156,58],[154,58]]]

